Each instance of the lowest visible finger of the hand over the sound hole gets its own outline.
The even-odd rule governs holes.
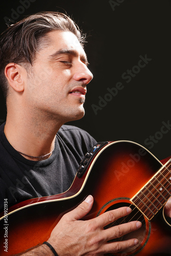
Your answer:
[[[106,243],[102,248],[103,253],[116,253],[119,251],[124,251],[126,249],[134,247],[138,244],[138,242],[138,239],[129,239],[126,241]]]

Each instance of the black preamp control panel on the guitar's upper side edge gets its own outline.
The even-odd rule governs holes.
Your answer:
[[[91,148],[90,152],[84,155],[84,158],[81,160],[77,170],[77,176],[79,178],[81,178],[83,174],[86,172],[87,167],[90,161],[92,160],[92,158],[99,152],[99,150],[101,150],[103,146],[105,146],[108,143],[109,143],[108,141],[98,142]]]

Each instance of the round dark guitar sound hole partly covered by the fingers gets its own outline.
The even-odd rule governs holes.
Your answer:
[[[137,221],[137,220],[140,221],[142,223],[142,226],[140,229],[130,232],[128,234],[125,234],[124,236],[122,236],[120,238],[116,238],[116,239],[108,241],[108,242],[118,242],[118,241],[124,241],[124,240],[132,239],[132,238],[137,238],[139,240],[138,245],[136,245],[135,247],[133,247],[131,249],[127,249],[125,251],[125,252],[130,252],[130,251],[135,250],[142,243],[144,238],[146,237],[146,223],[145,223],[145,219],[144,219],[143,215],[141,214],[141,212],[134,205],[132,205],[130,203],[125,203],[125,202],[115,203],[112,206],[110,206],[108,209],[106,209],[105,211],[117,209],[117,208],[123,207],[123,206],[131,207],[132,208],[131,214],[128,216],[122,217],[109,225],[106,225],[104,227],[104,229],[110,228],[111,226],[117,226],[117,225],[120,225],[123,223],[131,222],[131,221]]]

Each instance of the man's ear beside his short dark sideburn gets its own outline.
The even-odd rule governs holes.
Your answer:
[[[24,81],[26,76],[26,70],[22,66],[9,63],[5,67],[5,76],[10,84],[10,86],[16,92],[23,92],[24,91]]]

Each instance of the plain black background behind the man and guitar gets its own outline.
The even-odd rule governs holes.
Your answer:
[[[171,124],[170,1],[35,0],[24,12],[20,1],[1,1],[1,32],[7,27],[4,17],[11,18],[13,10],[22,12],[15,21],[39,11],[66,11],[88,35],[85,50],[94,79],[88,85],[86,115],[70,124],[88,131],[97,141],[132,140],[159,159],[171,155],[171,129],[160,132],[163,122]],[[122,74],[138,65],[140,55],[152,60],[126,82]],[[122,82],[123,89],[95,114],[92,104],[99,106],[99,96],[106,98],[107,88],[117,82]],[[2,92],[0,104],[3,122]],[[149,136],[156,137],[153,144]]]

